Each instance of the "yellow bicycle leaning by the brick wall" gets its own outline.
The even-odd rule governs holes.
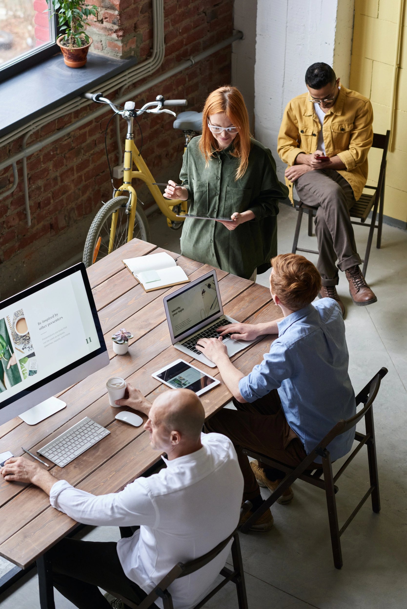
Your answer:
[[[187,202],[164,198],[137,146],[135,146],[133,124],[134,118],[140,116],[143,112],[167,113],[176,116],[175,112],[168,110],[166,107],[185,106],[187,101],[185,99],[165,100],[162,95],[158,95],[154,102],[148,102],[140,110],[136,110],[135,103],[130,101],[126,102],[123,110],[121,110],[109,99],[103,97],[101,93],[86,93],[84,97],[99,104],[109,104],[115,114],[119,114],[125,119],[128,125],[124,146],[123,184],[118,189],[113,190],[113,199],[103,203],[90,226],[83,256],[84,264],[88,267],[133,238],[149,241],[148,220],[143,209],[137,205],[137,194],[132,186],[134,178],[139,178],[146,183],[160,211],[167,217],[168,226],[175,230],[182,226],[183,220],[177,217],[177,214],[184,215],[187,213]],[[196,131],[200,130],[201,114],[195,112],[185,112],[184,114],[189,114],[191,115],[189,118],[195,119],[195,121],[184,123],[184,126],[195,126]],[[180,128],[182,128],[182,125]],[[186,146],[189,139],[196,135],[196,131],[193,128],[183,129],[183,131]],[[134,171],[133,164],[137,167],[137,171]],[[125,192],[128,194],[124,195]]]

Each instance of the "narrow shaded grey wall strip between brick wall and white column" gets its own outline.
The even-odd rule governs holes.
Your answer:
[[[232,85],[237,86],[245,98],[252,131],[257,3],[258,0],[234,0],[233,9],[233,27],[243,32],[243,38],[232,44]]]

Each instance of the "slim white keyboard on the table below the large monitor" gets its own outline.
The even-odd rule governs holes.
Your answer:
[[[56,465],[64,467],[107,434],[110,434],[110,431],[85,417],[37,452]]]

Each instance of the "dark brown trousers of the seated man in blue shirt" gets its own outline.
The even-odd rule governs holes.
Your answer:
[[[250,501],[259,496],[260,489],[243,448],[251,448],[290,466],[299,465],[306,452],[286,421],[276,389],[251,404],[240,404],[237,400],[233,403],[237,412],[223,408],[206,421],[205,427],[207,432],[223,434],[232,440],[245,482],[243,499]],[[268,468],[263,463],[259,465]],[[279,470],[274,473],[281,478],[286,475]]]

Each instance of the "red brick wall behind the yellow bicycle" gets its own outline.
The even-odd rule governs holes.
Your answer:
[[[95,38],[95,44],[101,43],[101,51],[110,48],[118,55],[135,54],[140,61],[148,57],[153,36],[151,1],[95,0],[95,4],[98,2],[103,7],[102,18],[99,12],[99,21],[92,28],[98,28],[99,38],[90,33]],[[232,4],[232,0],[165,0],[165,59],[154,76],[230,36]],[[104,30],[101,29],[102,25],[105,26]],[[117,45],[114,48],[113,41]],[[162,93],[175,99],[185,97],[189,101],[188,109],[201,110],[211,90],[230,82],[230,52],[230,48],[223,49],[145,91],[135,99],[136,106],[140,107]],[[114,96],[115,93],[110,94],[112,99]],[[28,145],[93,109],[91,106],[45,125],[32,134]],[[32,219],[29,228],[24,213],[22,163],[18,163],[21,181],[12,195],[0,200],[1,298],[23,289],[83,249],[88,227],[101,200],[112,197],[104,153],[104,131],[110,116],[109,111],[97,121],[85,124],[28,158]],[[145,114],[140,119],[144,138],[143,158],[159,181],[168,177],[177,178],[181,166],[183,136],[173,129],[172,122],[172,118],[165,114]],[[122,141],[124,135],[125,125],[122,125]],[[140,143],[137,128],[135,141]],[[107,143],[110,164],[113,166],[118,163],[114,121],[109,126]],[[19,150],[21,140],[0,150],[0,159]],[[12,181],[11,169],[1,172],[0,193],[10,188]],[[135,186],[146,206],[153,203],[145,186]]]

